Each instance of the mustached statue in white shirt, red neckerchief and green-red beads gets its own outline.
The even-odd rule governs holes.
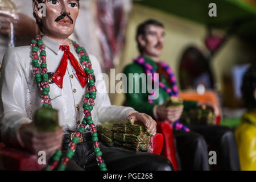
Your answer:
[[[39,3],[46,5],[46,16]],[[3,58],[3,142],[33,154],[45,151],[52,156],[47,170],[171,170],[170,161],[162,156],[109,148],[98,141],[98,123],[131,119],[154,135],[156,122],[131,107],[110,104],[105,81],[99,79],[101,67],[96,57],[69,39],[79,5],[79,0],[33,1],[36,23],[43,34],[36,36],[31,46],[9,49]],[[33,118],[40,107],[58,110],[61,127],[53,131],[36,130]],[[40,112],[36,115],[42,115]],[[42,125],[41,120],[39,117],[36,123]]]

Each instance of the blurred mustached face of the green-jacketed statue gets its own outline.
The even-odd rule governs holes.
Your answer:
[[[139,39],[143,53],[148,56],[159,57],[163,50],[164,35],[163,27],[155,25],[147,26],[145,36]]]

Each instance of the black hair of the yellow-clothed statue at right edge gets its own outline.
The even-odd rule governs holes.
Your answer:
[[[254,90],[256,89],[256,65],[251,65],[249,69],[247,69],[245,75],[243,75],[242,82],[242,97],[245,102],[245,106],[247,109],[255,109],[256,108],[256,100],[254,97]]]

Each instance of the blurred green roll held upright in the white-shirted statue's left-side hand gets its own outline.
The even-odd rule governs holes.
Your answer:
[[[56,131],[59,126],[58,111],[42,107],[35,111],[34,122],[38,131]]]

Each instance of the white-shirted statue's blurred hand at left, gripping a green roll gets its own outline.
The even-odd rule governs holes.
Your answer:
[[[18,132],[20,146],[26,148],[32,154],[45,151],[47,158],[61,146],[63,129],[58,127],[56,131],[38,132],[34,123],[20,127]]]

